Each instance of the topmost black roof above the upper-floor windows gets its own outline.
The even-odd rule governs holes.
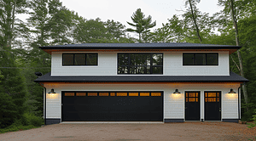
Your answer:
[[[240,46],[188,42],[158,43],[81,43],[39,47],[41,49],[239,49]]]

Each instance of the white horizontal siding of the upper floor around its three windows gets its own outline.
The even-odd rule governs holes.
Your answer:
[[[81,53],[81,52],[79,52]],[[89,52],[88,52],[89,53]],[[119,52],[98,53],[97,66],[62,66],[62,52],[52,53],[51,76],[115,76],[117,75],[117,54]],[[131,52],[125,52],[131,53]],[[134,53],[134,52],[132,52]],[[229,76],[229,53],[218,53],[218,65],[183,66],[183,53],[165,52],[163,75],[166,76]],[[200,52],[212,53],[212,52]],[[145,76],[145,75],[143,75]],[[151,76],[151,75],[150,75]]]

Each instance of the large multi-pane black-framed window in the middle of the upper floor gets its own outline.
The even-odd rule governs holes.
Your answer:
[[[163,54],[118,54],[118,74],[163,74]]]

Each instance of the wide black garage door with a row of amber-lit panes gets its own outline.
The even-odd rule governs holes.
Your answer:
[[[62,121],[163,121],[163,92],[62,92]]]

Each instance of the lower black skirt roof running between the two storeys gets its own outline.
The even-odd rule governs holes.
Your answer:
[[[50,76],[50,72],[34,82],[248,82],[230,71],[230,76]]]

